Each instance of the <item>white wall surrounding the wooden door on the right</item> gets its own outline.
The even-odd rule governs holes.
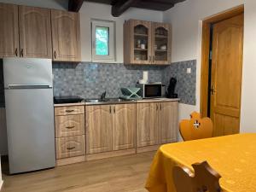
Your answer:
[[[201,20],[225,9],[245,5],[244,60],[241,91],[241,132],[255,132],[256,121],[256,1],[187,0],[166,11],[163,20],[172,24],[172,62],[197,60],[196,106],[180,104],[180,118],[200,109]]]

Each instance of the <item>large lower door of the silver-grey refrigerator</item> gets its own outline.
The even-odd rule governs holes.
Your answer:
[[[10,173],[55,166],[52,89],[5,90]]]

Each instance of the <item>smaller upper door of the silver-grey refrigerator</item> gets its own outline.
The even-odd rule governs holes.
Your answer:
[[[4,58],[4,87],[10,84],[49,85],[52,87],[52,64],[50,59]]]

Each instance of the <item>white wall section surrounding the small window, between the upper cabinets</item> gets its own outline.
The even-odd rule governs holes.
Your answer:
[[[81,20],[81,49],[82,61],[91,61],[91,34],[90,20],[113,20],[116,23],[116,62],[124,62],[123,58],[123,24],[125,20],[151,20],[162,21],[163,13],[160,11],[146,9],[128,9],[123,15],[113,17],[111,15],[111,6],[100,3],[84,2],[79,11]]]

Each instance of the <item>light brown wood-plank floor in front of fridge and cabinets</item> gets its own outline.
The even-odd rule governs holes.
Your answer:
[[[146,192],[155,152],[59,166],[42,172],[3,175],[1,192]]]

